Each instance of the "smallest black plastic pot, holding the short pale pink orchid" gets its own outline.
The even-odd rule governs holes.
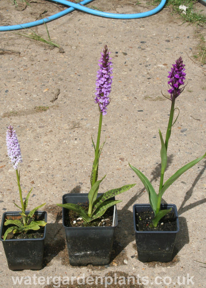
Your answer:
[[[38,218],[41,217],[41,220],[47,222],[47,212],[38,211],[35,213],[35,215],[38,215]],[[44,240],[46,237],[47,225],[44,227],[43,238],[11,239],[5,241],[2,239],[2,236],[4,235],[4,232],[7,228],[3,225],[5,219],[8,217],[16,219],[19,216],[19,212],[4,212],[1,221],[0,240],[3,243],[8,268],[10,270],[42,269],[44,257]]]

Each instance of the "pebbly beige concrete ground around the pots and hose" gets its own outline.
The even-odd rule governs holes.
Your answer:
[[[28,2],[21,2],[16,9],[13,0],[0,0],[0,26],[35,21],[65,9],[46,0]],[[137,3],[95,0],[88,6],[112,13],[139,13],[155,7],[144,0]],[[206,14],[203,4],[196,3],[196,9]],[[46,28],[60,48],[19,35],[33,33],[48,39]],[[187,86],[175,104],[180,115],[172,128],[165,181],[205,153],[206,65],[194,57],[201,58],[198,47],[202,37],[206,39],[205,26],[183,23],[168,6],[153,16],[131,20],[73,11],[47,27],[0,32],[0,217],[4,211],[16,211],[13,201],[20,204],[6,151],[9,124],[16,130],[22,152],[23,196],[33,187],[28,209],[47,202],[48,212],[44,268],[9,270],[0,244],[0,287],[205,288],[206,160],[182,175],[163,195],[163,202],[176,204],[180,221],[174,259],[169,263],[138,260],[132,208],[149,200],[128,165],[140,169],[158,190],[158,129],[164,138],[170,111],[170,100],[161,92],[167,95],[168,71],[180,56],[186,65]],[[99,121],[94,102],[96,73],[105,44],[111,51],[113,83],[103,117],[101,141],[106,142],[99,179],[105,174],[106,178],[99,192],[137,185],[116,197],[122,202],[117,205],[111,263],[73,267],[69,265],[62,210],[56,203],[61,203],[64,193],[90,190],[91,137],[96,140]]]

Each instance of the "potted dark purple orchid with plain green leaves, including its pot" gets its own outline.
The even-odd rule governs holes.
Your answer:
[[[168,99],[171,100],[171,108],[165,141],[163,140],[162,133],[159,130],[161,142],[161,172],[158,193],[155,192],[149,179],[140,170],[129,164],[144,184],[149,194],[150,201],[150,204],[135,204],[133,206],[138,259],[142,262],[169,262],[172,260],[174,241],[176,234],[179,231],[177,207],[174,204],[162,204],[162,196],[170,185],[173,184],[184,172],[206,157],[205,153],[203,156],[191,161],[190,163],[187,163],[164,182],[169,138],[171,135],[172,126],[177,121],[179,115],[178,113],[176,119],[173,120],[174,111],[175,109],[178,109],[175,108],[175,100],[185,88],[185,86],[182,86],[184,85],[186,77],[184,67],[185,65],[183,64],[182,57],[179,57],[175,64],[172,65],[168,76],[168,93],[170,94]],[[147,219],[147,221],[145,219]]]

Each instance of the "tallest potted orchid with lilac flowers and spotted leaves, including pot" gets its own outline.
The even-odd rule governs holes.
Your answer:
[[[103,145],[100,145],[103,116],[107,113],[110,102],[109,94],[112,83],[112,62],[109,50],[105,45],[100,58],[100,69],[97,72],[95,102],[99,105],[99,129],[97,144],[93,138],[95,159],[91,173],[91,190],[89,193],[64,194],[63,225],[65,228],[69,262],[71,265],[107,265],[110,261],[110,253],[114,239],[114,229],[117,226],[116,204],[121,200],[115,200],[115,196],[129,190],[135,184],[125,185],[118,189],[112,189],[99,193],[99,187],[105,176],[98,180],[100,155]],[[72,220],[72,217],[76,217]],[[111,216],[111,223],[108,218]]]

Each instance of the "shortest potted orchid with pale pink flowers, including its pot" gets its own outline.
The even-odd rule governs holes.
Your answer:
[[[20,145],[15,130],[9,126],[6,132],[7,153],[16,172],[21,206],[14,205],[20,212],[4,212],[0,240],[3,243],[8,268],[11,270],[41,269],[43,266],[44,240],[46,236],[47,212],[37,211],[46,203],[27,211],[29,196],[22,196],[20,171],[18,165],[22,162]]]

